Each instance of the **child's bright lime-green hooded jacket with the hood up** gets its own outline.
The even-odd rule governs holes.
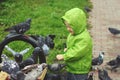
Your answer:
[[[62,17],[72,27],[74,35],[67,38],[67,51],[63,54],[67,71],[74,74],[86,74],[92,61],[92,38],[87,31],[86,15],[79,8],[73,8]]]

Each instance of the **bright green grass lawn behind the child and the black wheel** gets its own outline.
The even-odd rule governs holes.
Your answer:
[[[64,13],[74,7],[92,8],[89,0],[6,0],[0,3],[0,41],[8,34],[5,28],[32,19],[31,28],[26,34],[55,34],[55,48],[47,58],[54,62],[55,56],[63,50],[68,31],[61,21]],[[87,14],[86,14],[87,15]],[[88,16],[88,15],[87,15]]]

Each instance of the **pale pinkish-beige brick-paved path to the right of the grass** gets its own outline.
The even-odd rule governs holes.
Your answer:
[[[93,55],[97,56],[100,51],[105,52],[105,61],[120,55],[120,37],[114,37],[108,27],[120,29],[120,0],[91,0],[93,10],[90,12],[89,21],[93,28],[90,30],[93,37]],[[120,73],[111,73],[113,80],[120,80]],[[97,80],[97,79],[96,79]]]

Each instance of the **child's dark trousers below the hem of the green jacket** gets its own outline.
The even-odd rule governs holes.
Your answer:
[[[66,80],[87,80],[88,74],[72,74],[67,73]]]

